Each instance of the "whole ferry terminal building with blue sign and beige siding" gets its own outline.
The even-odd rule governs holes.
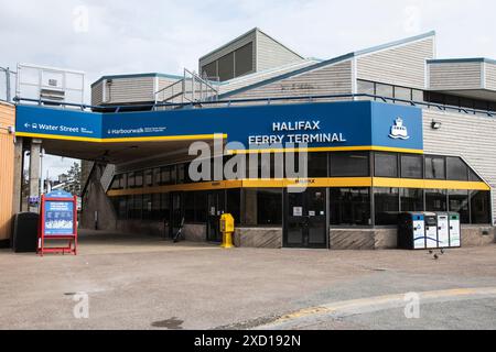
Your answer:
[[[219,242],[229,212],[238,246],[373,250],[400,212],[452,211],[463,245],[494,243],[496,61],[435,52],[430,32],[305,58],[255,29],[197,73],[104,76],[83,109],[18,97],[14,174],[23,148],[85,161],[83,228]]]

